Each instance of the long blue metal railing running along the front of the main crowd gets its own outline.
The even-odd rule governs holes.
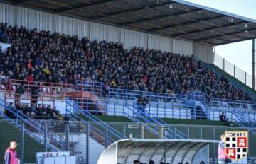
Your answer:
[[[233,109],[237,112],[242,110],[255,112],[256,110],[255,101],[208,98],[200,91],[191,91],[187,94],[152,93],[139,90],[110,88],[100,82],[83,80],[77,80],[75,87],[76,90],[91,92],[93,95],[97,96],[97,99],[104,98],[107,101],[114,102],[137,102],[139,96],[143,95],[149,100],[149,108],[156,108],[156,110],[161,108],[164,110],[166,110],[166,108],[172,109],[174,106],[181,108],[198,106],[193,103],[191,104],[193,101],[203,103],[208,109],[212,110],[214,108],[214,110],[219,110],[221,112],[225,112],[227,109]]]

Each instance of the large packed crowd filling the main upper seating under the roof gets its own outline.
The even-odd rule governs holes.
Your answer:
[[[0,23],[0,42],[11,44],[0,54],[0,75],[9,79],[71,83],[84,78],[111,88],[159,93],[200,90],[213,98],[252,100],[188,55],[142,47],[128,51],[122,43],[79,40],[6,23]]]

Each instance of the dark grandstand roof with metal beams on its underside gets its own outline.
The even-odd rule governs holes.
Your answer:
[[[255,20],[183,0],[0,1],[210,45],[256,37]]]

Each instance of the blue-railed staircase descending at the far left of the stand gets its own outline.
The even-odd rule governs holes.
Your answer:
[[[67,146],[65,139],[60,134],[55,134],[53,131],[50,131],[45,123],[38,122],[35,119],[31,119],[27,115],[24,115],[23,112],[17,110],[15,107],[6,105],[4,100],[0,99],[0,106],[11,114],[11,117],[4,115],[2,117],[4,120],[11,122],[17,129],[21,130],[22,124],[26,134],[31,136],[33,139],[36,139],[38,143],[45,144],[47,142],[48,148],[52,151],[67,151],[68,147],[70,153],[73,153],[73,143],[70,143],[70,146]]]

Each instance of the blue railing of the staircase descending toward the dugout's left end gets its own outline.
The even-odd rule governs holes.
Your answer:
[[[120,133],[119,131],[117,131],[107,123],[102,122],[101,119],[97,118],[95,115],[92,115],[89,111],[82,109],[82,107],[79,105],[78,100],[82,100],[82,99],[66,98],[66,111],[70,115],[76,118],[78,118],[78,116],[75,114],[81,114],[85,116],[87,119],[89,119],[89,122],[93,122],[93,124],[97,125],[97,128],[96,126],[92,127],[96,129],[97,133],[102,131],[100,129],[103,129],[104,131],[108,131],[108,133],[110,134],[110,138],[107,139],[107,143],[108,143],[107,145],[112,144],[113,141],[126,138],[126,136],[124,136],[122,133]]]

